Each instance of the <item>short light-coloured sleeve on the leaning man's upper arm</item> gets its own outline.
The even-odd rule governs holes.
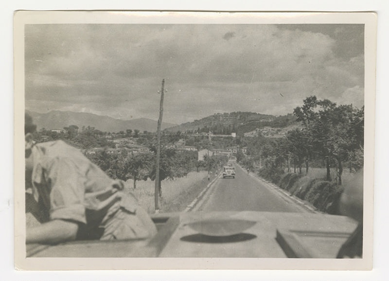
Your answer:
[[[84,193],[85,178],[75,163],[55,158],[47,170],[50,182],[50,219],[66,219],[86,224]]]

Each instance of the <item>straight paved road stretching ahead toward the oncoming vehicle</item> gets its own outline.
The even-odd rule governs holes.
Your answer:
[[[305,212],[306,209],[236,165],[235,178],[216,179],[194,211]]]

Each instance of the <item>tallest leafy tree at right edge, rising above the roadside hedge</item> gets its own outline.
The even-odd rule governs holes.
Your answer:
[[[336,160],[337,183],[342,183],[343,161],[363,146],[364,109],[352,105],[339,105],[315,96],[304,100],[294,114],[304,124],[312,147],[326,161],[327,180],[330,180],[330,163]]]

